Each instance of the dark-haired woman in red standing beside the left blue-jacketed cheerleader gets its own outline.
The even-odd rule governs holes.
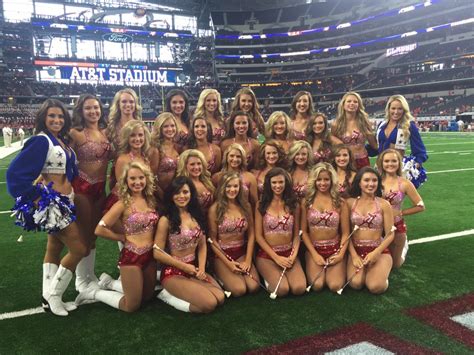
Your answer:
[[[111,157],[111,146],[105,136],[106,126],[99,99],[90,94],[81,95],[74,107],[73,128],[69,132],[79,168],[79,175],[72,181],[77,224],[88,246],[88,255],[76,268],[77,291],[91,281],[98,281],[94,273],[97,239],[94,226],[104,209],[107,166]]]

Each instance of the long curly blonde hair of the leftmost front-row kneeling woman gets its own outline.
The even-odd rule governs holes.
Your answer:
[[[146,186],[142,194],[146,200],[146,204],[148,205],[148,207],[150,207],[151,209],[155,209],[156,200],[155,196],[153,195],[155,191],[154,175],[152,174],[148,166],[138,161],[132,161],[128,163],[123,169],[122,176],[120,176],[120,179],[118,181],[118,195],[120,200],[124,203],[126,208],[130,208],[132,204],[132,194],[130,193],[130,189],[127,184],[127,177],[130,169],[138,169],[145,175]]]

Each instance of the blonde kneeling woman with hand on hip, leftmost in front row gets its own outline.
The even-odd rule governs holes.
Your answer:
[[[88,286],[77,296],[77,304],[97,300],[125,312],[134,312],[143,301],[152,298],[156,283],[153,236],[158,223],[153,192],[150,168],[140,162],[127,164],[119,180],[119,201],[95,229],[101,237],[125,243],[118,262],[123,293]],[[110,228],[118,220],[123,223],[124,235]]]

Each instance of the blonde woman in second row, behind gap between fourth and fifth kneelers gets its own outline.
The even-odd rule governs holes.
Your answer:
[[[306,196],[309,171],[313,166],[311,146],[306,141],[296,141],[288,154],[290,174],[293,181],[293,192],[298,201]]]

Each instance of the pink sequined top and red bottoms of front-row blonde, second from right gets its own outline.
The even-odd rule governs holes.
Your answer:
[[[310,231],[323,229],[337,231],[339,229],[340,216],[336,210],[320,212],[310,207],[308,209],[307,220]],[[336,236],[335,238],[327,240],[313,240],[312,243],[318,254],[324,259],[327,259],[337,252],[341,245],[341,238],[340,236]]]

